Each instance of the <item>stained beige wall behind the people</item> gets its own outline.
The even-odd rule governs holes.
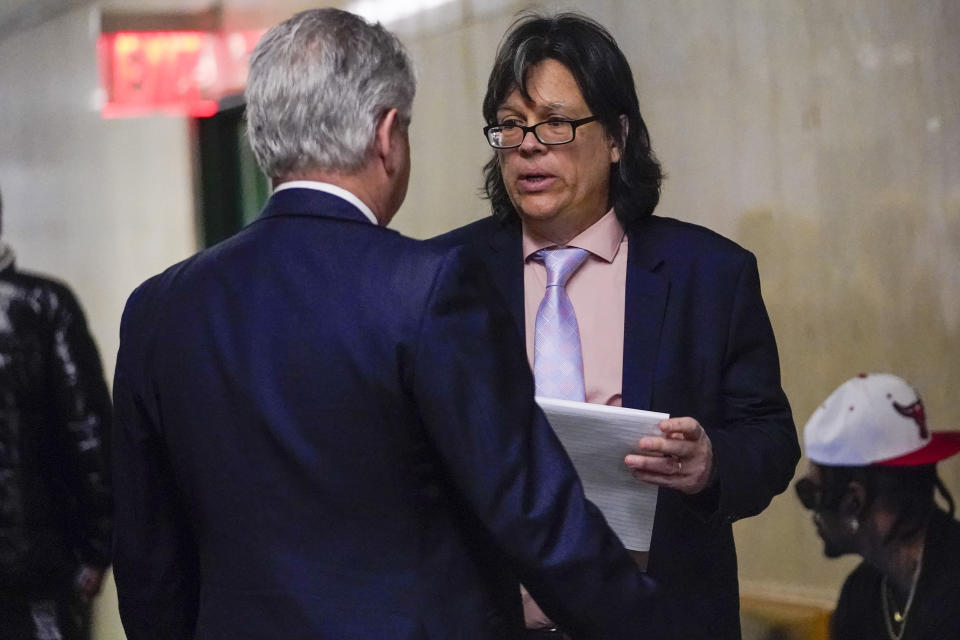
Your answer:
[[[224,3],[231,26],[307,6]],[[419,69],[413,182],[395,228],[427,237],[485,215],[479,105],[521,6],[454,0],[394,25]],[[935,427],[960,428],[960,5],[580,8],[633,65],[669,174],[658,213],[757,254],[798,424],[846,378],[889,370],[923,391]],[[112,369],[125,296],[194,247],[193,141],[182,120],[102,121],[89,108],[88,23],[76,10],[0,41],[0,185],[21,263],[75,287]],[[941,468],[960,495],[960,463]],[[736,535],[745,590],[832,601],[852,566],[821,557],[789,493]],[[99,637],[120,637],[114,608],[101,602]]]

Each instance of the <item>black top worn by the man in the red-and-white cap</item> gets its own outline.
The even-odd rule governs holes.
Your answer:
[[[889,638],[883,620],[883,574],[862,562],[840,592],[833,640]],[[960,638],[960,522],[936,510],[927,528],[923,566],[900,640]]]

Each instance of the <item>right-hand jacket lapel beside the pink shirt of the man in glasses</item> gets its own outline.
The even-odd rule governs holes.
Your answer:
[[[649,409],[670,281],[657,273],[663,258],[640,224],[627,232],[623,336],[623,406]]]

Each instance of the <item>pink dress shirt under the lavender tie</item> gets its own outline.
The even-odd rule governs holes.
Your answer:
[[[523,225],[523,299],[527,359],[533,369],[533,338],[537,309],[547,286],[543,264],[530,256],[552,242],[533,235]],[[623,322],[627,290],[627,235],[613,209],[567,246],[590,252],[567,282],[580,327],[583,381],[587,402],[622,405]]]

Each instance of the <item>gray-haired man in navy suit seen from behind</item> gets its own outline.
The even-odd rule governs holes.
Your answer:
[[[120,329],[130,640],[501,640],[523,630],[517,580],[580,637],[657,615],[481,270],[385,229],[413,94],[399,41],[343,11],[257,46],[249,135],[274,195],[137,288]]]

